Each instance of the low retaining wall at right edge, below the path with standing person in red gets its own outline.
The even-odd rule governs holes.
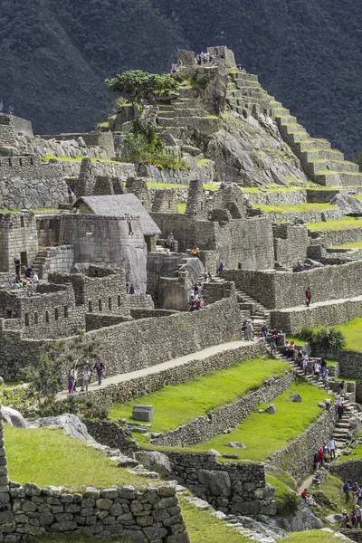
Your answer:
[[[317,326],[335,326],[362,316],[362,296],[338,302],[326,301],[309,308],[300,306],[295,309],[272,310],[271,325],[290,333],[301,325],[315,328]]]

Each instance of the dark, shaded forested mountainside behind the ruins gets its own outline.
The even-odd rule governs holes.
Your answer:
[[[362,148],[356,0],[0,0],[0,13],[0,105],[36,132],[92,129],[112,107],[106,76],[226,44],[311,134]]]

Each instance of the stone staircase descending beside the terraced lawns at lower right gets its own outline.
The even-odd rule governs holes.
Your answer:
[[[320,379],[317,379],[317,377],[313,376],[310,373],[304,375],[304,371],[295,360],[287,360],[285,357],[282,356],[281,352],[273,353],[271,356],[273,358],[283,360],[284,362],[288,362],[291,367],[293,367],[295,375],[298,376],[301,380],[310,383],[313,386],[317,386],[318,388],[325,389],[325,386]],[[310,360],[312,360],[312,358],[310,358]],[[326,392],[328,392],[330,395],[336,396],[336,394],[332,390],[326,390]],[[357,410],[356,405],[349,401],[348,393],[347,398],[343,400],[343,405],[344,413],[342,415],[342,418],[340,420],[337,420],[334,431],[332,433],[332,436],[336,442],[337,456],[341,454],[342,450],[348,445],[348,443],[354,440],[355,424],[353,424],[352,419],[357,417],[362,422],[361,414]],[[334,406],[332,408],[334,408]]]

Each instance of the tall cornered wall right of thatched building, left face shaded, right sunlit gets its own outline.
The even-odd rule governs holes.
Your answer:
[[[226,268],[237,268],[250,261],[256,269],[274,266],[271,220],[268,217],[230,220],[226,224],[198,221],[184,214],[151,214],[162,237],[174,233],[178,249],[186,252],[195,245],[204,251],[214,251],[215,261],[221,259]]]

